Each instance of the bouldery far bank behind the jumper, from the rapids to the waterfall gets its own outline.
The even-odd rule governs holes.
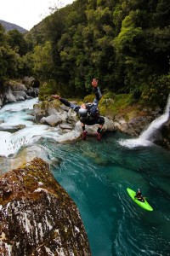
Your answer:
[[[75,140],[81,137],[82,128],[80,121],[78,120],[77,113],[71,110],[71,108],[60,104],[57,100],[36,104],[34,106],[33,114],[37,123],[50,125],[52,127],[59,127],[60,134],[65,134],[63,138],[60,137],[62,142],[69,143],[73,139]],[[125,118],[123,114],[116,114],[115,116],[106,114],[103,131],[120,131],[133,137],[139,137],[141,132],[143,132],[150,123],[159,116],[161,116],[161,110],[159,108],[156,110],[143,109],[140,113],[135,111],[132,112],[131,110],[131,114],[128,115],[128,118]],[[98,125],[86,125],[88,136],[94,136],[97,131],[97,127]],[[154,143],[170,149],[169,134],[170,125],[167,120],[165,124],[161,125],[161,128],[156,133]]]

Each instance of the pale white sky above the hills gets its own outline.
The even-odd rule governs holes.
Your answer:
[[[74,0],[0,0],[0,20],[5,20],[26,30],[51,14],[51,8],[65,7]]]

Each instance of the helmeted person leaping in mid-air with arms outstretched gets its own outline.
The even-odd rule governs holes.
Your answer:
[[[88,131],[85,129],[85,125],[95,125],[99,124],[99,128],[97,130],[97,140],[101,140],[101,131],[102,127],[105,124],[105,119],[103,116],[99,115],[99,100],[101,99],[101,91],[98,87],[98,80],[93,79],[92,80],[92,86],[94,87],[94,102],[93,103],[82,103],[81,106],[77,106],[76,104],[73,104],[71,102],[68,102],[67,100],[61,98],[59,95],[53,95],[54,99],[59,99],[60,102],[65,104],[65,106],[72,108],[74,111],[79,113],[80,115],[80,121],[82,125],[82,140],[87,139]]]

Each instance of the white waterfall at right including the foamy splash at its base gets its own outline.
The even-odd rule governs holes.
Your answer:
[[[123,147],[127,148],[150,146],[150,144],[154,142],[159,129],[161,129],[161,126],[164,125],[168,119],[170,119],[170,94],[167,98],[167,106],[164,113],[153,122],[151,122],[149,127],[141,133],[139,138],[120,140],[118,143],[120,143],[120,145],[122,145]]]

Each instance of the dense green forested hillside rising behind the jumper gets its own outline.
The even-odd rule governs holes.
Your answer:
[[[46,81],[42,98],[58,91],[84,96],[96,77],[104,91],[130,93],[149,104],[167,101],[168,0],[77,0],[42,20],[25,38],[16,32],[6,35],[2,27],[0,38],[1,76],[34,75]]]

